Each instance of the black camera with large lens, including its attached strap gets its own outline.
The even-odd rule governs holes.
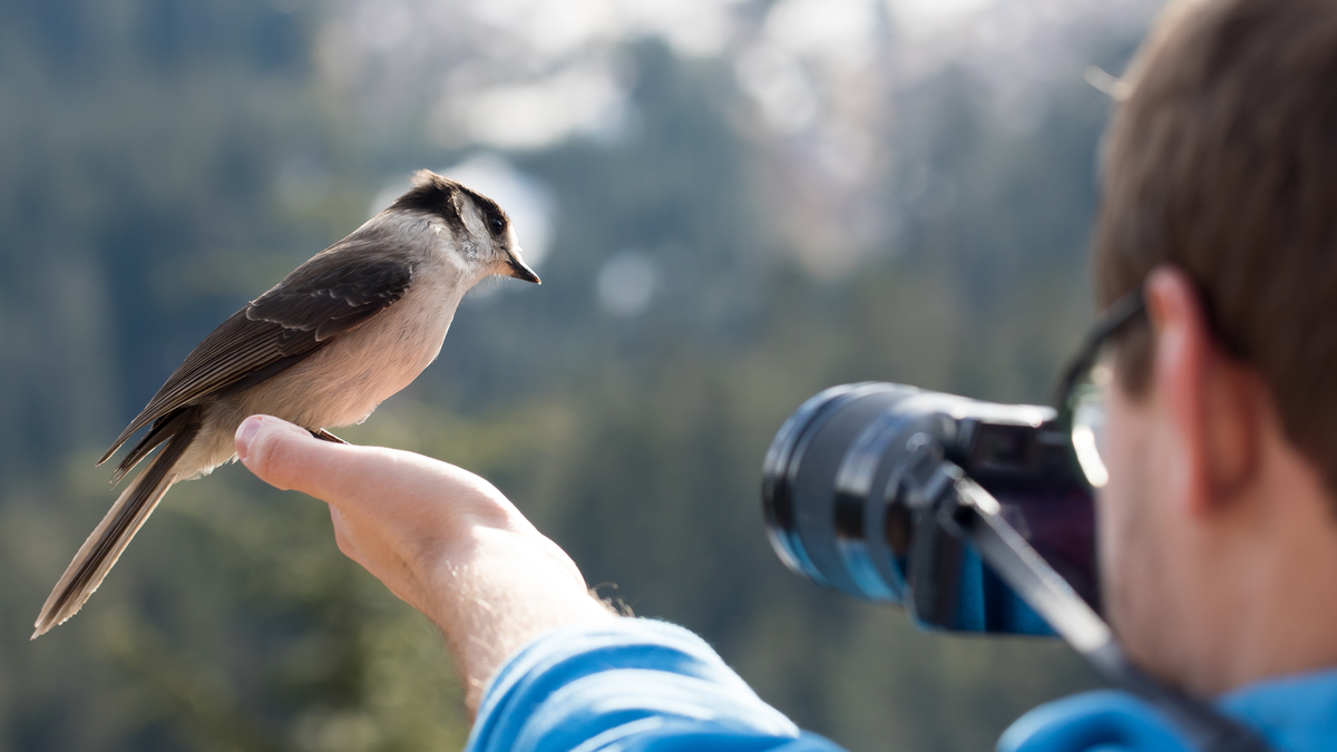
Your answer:
[[[1063,637],[1193,749],[1267,752],[1210,702],[1134,665],[1100,617],[1083,426],[1048,407],[902,384],[832,387],[766,452],[766,534],[796,573],[902,605],[924,628]]]

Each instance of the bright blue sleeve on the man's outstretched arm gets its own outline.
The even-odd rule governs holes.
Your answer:
[[[840,752],[802,733],[695,634],[623,618],[550,632],[483,696],[469,752]]]

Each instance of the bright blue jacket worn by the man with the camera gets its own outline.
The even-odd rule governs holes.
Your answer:
[[[1337,751],[1337,670],[1254,684],[1219,708],[1277,752]],[[800,731],[699,637],[648,620],[539,637],[488,685],[469,752],[840,752]],[[1000,752],[1183,752],[1175,729],[1120,692],[1031,711]]]

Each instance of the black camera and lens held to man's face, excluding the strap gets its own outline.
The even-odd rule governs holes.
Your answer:
[[[944,466],[996,498],[1001,516],[1099,612],[1094,492],[1047,407],[886,383],[818,393],[766,454],[771,546],[796,573],[904,605],[925,628],[1054,634],[933,506]]]

